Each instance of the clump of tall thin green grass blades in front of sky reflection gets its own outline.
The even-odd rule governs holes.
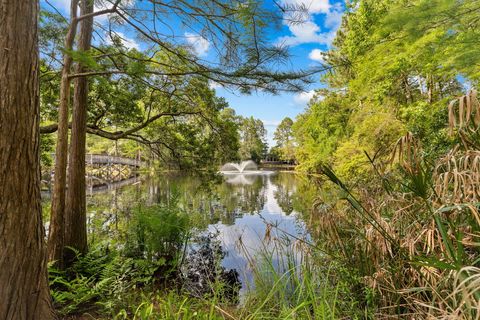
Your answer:
[[[242,244],[253,274],[240,319],[336,319],[340,285],[332,283],[321,259],[303,239],[270,237],[250,255]]]

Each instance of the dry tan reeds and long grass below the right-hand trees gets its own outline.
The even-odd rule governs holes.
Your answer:
[[[318,236],[341,248],[342,263],[374,290],[376,318],[480,317],[479,112],[474,91],[450,104],[450,131],[461,143],[436,163],[409,133],[390,161],[372,162],[368,184],[350,187],[322,168],[340,202],[317,201],[314,215],[330,229]]]

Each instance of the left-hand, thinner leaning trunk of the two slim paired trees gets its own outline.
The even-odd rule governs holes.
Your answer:
[[[60,103],[58,110],[57,149],[55,150],[55,176],[53,181],[52,209],[50,214],[50,231],[48,234],[48,258],[56,261],[59,268],[63,267],[63,249],[65,247],[65,189],[67,180],[67,152],[68,152],[68,108],[70,101],[70,68],[77,30],[77,7],[79,0],[72,0],[70,7],[71,22],[65,38],[62,79],[60,82]]]

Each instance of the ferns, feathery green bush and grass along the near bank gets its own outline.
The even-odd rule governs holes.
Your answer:
[[[185,262],[188,257],[183,256],[184,236],[190,232],[185,228],[185,221],[174,218],[165,208],[141,210],[135,218],[139,221],[133,221],[128,229],[133,243],[119,248],[97,244],[87,255],[78,256],[67,270],[50,270],[52,296],[61,316],[273,320],[337,319],[354,315],[351,318],[360,319],[362,312],[366,312],[359,311],[366,308],[351,298],[350,284],[347,284],[358,279],[347,277],[347,272],[333,263],[328,267],[320,263],[325,257],[310,247],[311,244],[301,239],[293,241],[288,236],[265,239],[265,246],[254,256],[243,247],[251,266],[253,286],[245,288],[240,300],[234,298],[234,291],[226,288],[224,270],[218,269],[223,255],[221,248],[212,244],[214,240],[193,251],[202,253],[204,258],[208,256],[205,260],[210,262],[203,271],[192,272],[217,271],[202,279],[191,278],[184,273],[195,269],[188,264],[197,263],[197,258]],[[147,221],[154,223],[144,228]],[[150,234],[157,225],[155,221],[177,222],[182,227],[166,228],[159,223],[163,235],[161,232]],[[182,236],[177,234],[179,231]],[[159,245],[159,241],[171,243]],[[339,272],[345,276],[339,277]],[[199,291],[193,286],[195,290],[192,290],[192,279],[208,289]]]

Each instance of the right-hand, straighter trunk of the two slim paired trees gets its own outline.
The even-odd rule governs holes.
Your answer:
[[[93,0],[81,2],[81,15],[93,12]],[[80,24],[78,50],[90,50],[93,31],[93,17],[83,19]],[[75,73],[85,72],[77,64]],[[87,252],[86,221],[86,182],[85,182],[85,144],[87,135],[88,79],[75,79],[73,94],[73,121],[68,163],[67,207],[65,210],[65,247],[72,247],[80,253]],[[65,249],[65,262],[70,263],[74,256]]]

